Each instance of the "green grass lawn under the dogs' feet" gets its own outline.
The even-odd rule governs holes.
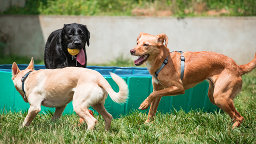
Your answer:
[[[76,114],[51,121],[51,111],[38,114],[29,128],[20,128],[27,112],[8,111],[0,113],[0,143],[256,143],[256,70],[242,79],[242,90],[234,99],[244,117],[238,128],[231,128],[225,112],[158,112],[153,122],[144,124],[147,115],[140,110],[113,119],[109,132],[104,131],[101,115],[94,115],[98,124],[87,131],[86,123],[77,125]]]

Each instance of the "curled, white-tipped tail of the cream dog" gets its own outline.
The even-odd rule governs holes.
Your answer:
[[[119,92],[114,92],[114,90],[111,88],[110,84],[105,80],[102,79],[99,81],[98,85],[103,87],[107,93],[109,94],[110,98],[116,102],[116,103],[124,103],[126,102],[129,91],[128,91],[128,85],[126,82],[118,75],[109,72],[112,79],[116,82],[116,84],[119,86]]]

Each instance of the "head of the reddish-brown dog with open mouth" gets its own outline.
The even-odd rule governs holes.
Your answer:
[[[164,40],[165,45],[163,45]],[[130,49],[131,55],[139,56],[134,60],[135,65],[138,66],[147,60],[154,59],[156,55],[161,53],[162,48],[167,46],[167,43],[168,37],[164,33],[155,36],[140,32],[137,37],[137,45]]]

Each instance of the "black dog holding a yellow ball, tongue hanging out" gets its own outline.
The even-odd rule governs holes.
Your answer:
[[[45,67],[49,69],[67,66],[86,67],[85,43],[87,42],[89,46],[89,38],[90,32],[86,25],[77,23],[64,24],[62,29],[51,32],[45,44]],[[77,55],[72,56],[68,53],[67,48],[80,51]]]

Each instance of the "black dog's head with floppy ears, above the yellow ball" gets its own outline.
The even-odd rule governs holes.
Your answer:
[[[85,43],[89,46],[90,32],[86,25],[71,23],[64,24],[59,35],[58,44],[63,46],[63,50],[67,51],[67,47],[71,49],[82,49]]]

